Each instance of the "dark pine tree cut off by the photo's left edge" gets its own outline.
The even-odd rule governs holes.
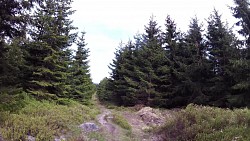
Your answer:
[[[25,36],[25,2],[0,1],[0,93],[19,93]],[[1,94],[0,94],[1,95]]]

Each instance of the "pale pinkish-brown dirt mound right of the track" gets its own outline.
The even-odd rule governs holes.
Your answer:
[[[149,126],[160,126],[165,122],[164,116],[158,109],[144,107],[137,112],[137,115],[146,125]]]

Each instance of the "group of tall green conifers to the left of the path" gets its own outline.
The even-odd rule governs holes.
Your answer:
[[[89,103],[95,91],[89,49],[85,32],[78,34],[72,25],[71,4],[72,0],[0,1],[0,103],[22,93],[37,100]]]

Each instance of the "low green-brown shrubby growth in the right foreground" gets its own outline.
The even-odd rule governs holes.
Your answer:
[[[159,130],[165,140],[250,140],[249,109],[230,110],[190,104],[174,116]]]

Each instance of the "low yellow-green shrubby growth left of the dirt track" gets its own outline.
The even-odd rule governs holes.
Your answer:
[[[0,113],[0,133],[5,140],[25,140],[27,135],[36,141],[54,140],[55,136],[78,134],[77,127],[94,120],[98,111],[70,101],[66,105],[29,99],[16,112]]]

